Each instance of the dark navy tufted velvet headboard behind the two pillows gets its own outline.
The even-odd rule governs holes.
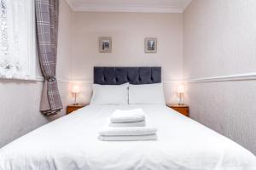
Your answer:
[[[94,67],[94,83],[102,85],[161,82],[161,67]]]

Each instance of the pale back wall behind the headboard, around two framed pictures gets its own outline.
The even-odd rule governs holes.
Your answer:
[[[176,101],[174,82],[183,72],[183,14],[73,13],[73,79],[79,101],[90,100],[93,66],[162,66],[166,101]],[[112,53],[99,53],[98,38],[112,37]],[[156,54],[144,53],[144,38],[157,37]]]

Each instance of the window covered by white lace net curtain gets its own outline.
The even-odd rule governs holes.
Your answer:
[[[35,79],[34,0],[0,2],[0,77]]]

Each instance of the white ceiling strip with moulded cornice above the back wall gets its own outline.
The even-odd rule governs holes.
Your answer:
[[[191,0],[66,0],[74,11],[182,13]]]

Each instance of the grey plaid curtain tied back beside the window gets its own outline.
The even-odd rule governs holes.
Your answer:
[[[55,115],[63,108],[56,81],[59,0],[35,0],[38,54],[44,75],[40,111]]]

